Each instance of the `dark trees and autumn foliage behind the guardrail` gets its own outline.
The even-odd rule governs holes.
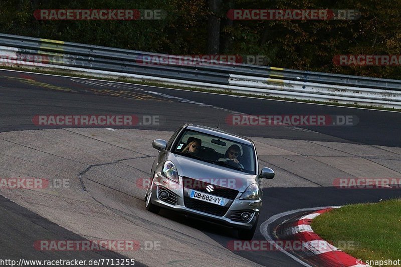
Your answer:
[[[208,54],[208,1],[0,0],[0,33],[164,54]],[[37,21],[36,9],[162,9],[154,21]],[[230,21],[229,9],[356,9],[354,21]],[[220,54],[264,55],[269,66],[399,79],[401,68],[339,67],[334,55],[401,54],[399,0],[222,1]],[[209,40],[210,41],[210,40]]]

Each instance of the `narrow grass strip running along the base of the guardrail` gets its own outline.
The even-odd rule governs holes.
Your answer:
[[[394,109],[394,108],[372,107],[372,106],[357,105],[357,104],[341,104],[341,103],[336,103],[336,102],[299,100],[299,99],[275,97],[275,96],[268,96],[268,95],[265,96],[265,95],[236,93],[236,92],[232,92],[231,90],[224,90],[224,89],[214,90],[214,89],[195,88],[195,87],[171,85],[171,84],[164,84],[164,83],[157,83],[157,82],[136,81],[136,80],[131,80],[129,78],[110,78],[110,77],[103,78],[103,77],[96,77],[96,76],[88,75],[88,74],[78,74],[76,71],[66,71],[66,70],[59,70],[59,69],[44,70],[44,69],[40,69],[37,67],[30,68],[30,67],[9,67],[9,66],[0,66],[0,69],[28,71],[28,72],[34,72],[34,73],[53,74],[53,75],[62,75],[62,76],[72,76],[72,77],[78,77],[78,78],[100,79],[100,80],[107,80],[107,81],[113,81],[113,82],[125,82],[125,83],[131,83],[131,84],[149,85],[149,86],[155,86],[155,87],[166,87],[166,88],[182,89],[182,90],[195,91],[195,92],[207,92],[207,93],[215,93],[215,94],[247,96],[247,97],[264,98],[264,99],[272,99],[272,100],[284,100],[284,101],[291,101],[291,102],[301,102],[301,103],[323,104],[323,105],[340,106],[340,107],[366,108],[366,109],[374,109],[374,110],[387,110],[387,111],[401,112],[401,109]]]

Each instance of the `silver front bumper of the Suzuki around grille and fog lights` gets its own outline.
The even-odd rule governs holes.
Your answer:
[[[154,205],[158,205],[163,208],[172,209],[178,211],[180,213],[196,217],[199,219],[207,220],[214,223],[223,224],[229,227],[235,228],[244,228],[250,229],[253,227],[257,218],[259,216],[259,211],[262,205],[261,199],[258,200],[240,200],[239,197],[241,196],[242,192],[239,192],[235,199],[228,201],[224,207],[228,208],[227,211],[224,212],[224,215],[218,216],[211,213],[208,213],[192,208],[188,208],[185,206],[184,197],[188,199],[189,197],[189,190],[188,188],[182,187],[182,177],[179,177],[180,184],[177,184],[170,179],[165,178],[159,173],[156,173],[153,179],[153,184],[151,185],[152,190],[152,203]],[[166,190],[173,195],[171,199],[162,199],[160,197],[160,191]],[[202,200],[196,200],[202,201]],[[216,205],[217,204],[210,204]],[[242,212],[249,212],[252,213],[250,219],[248,221],[242,221],[238,219],[238,214]]]

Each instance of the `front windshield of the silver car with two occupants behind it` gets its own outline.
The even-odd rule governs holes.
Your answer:
[[[255,174],[253,146],[218,136],[186,130],[172,147],[172,152]]]

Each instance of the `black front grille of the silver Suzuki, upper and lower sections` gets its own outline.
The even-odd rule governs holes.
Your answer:
[[[212,192],[209,192],[207,190],[208,185],[213,185],[214,190]],[[235,189],[210,184],[204,181],[199,181],[188,177],[183,177],[183,187],[184,187],[183,190],[185,190],[185,188],[193,189],[199,192],[204,192],[210,195],[224,197],[230,200],[234,200],[239,192],[238,190]],[[184,196],[184,205],[187,208],[202,211],[216,216],[224,216],[230,208],[230,206],[220,206],[217,204],[208,203],[206,201],[193,199],[186,196]]]

